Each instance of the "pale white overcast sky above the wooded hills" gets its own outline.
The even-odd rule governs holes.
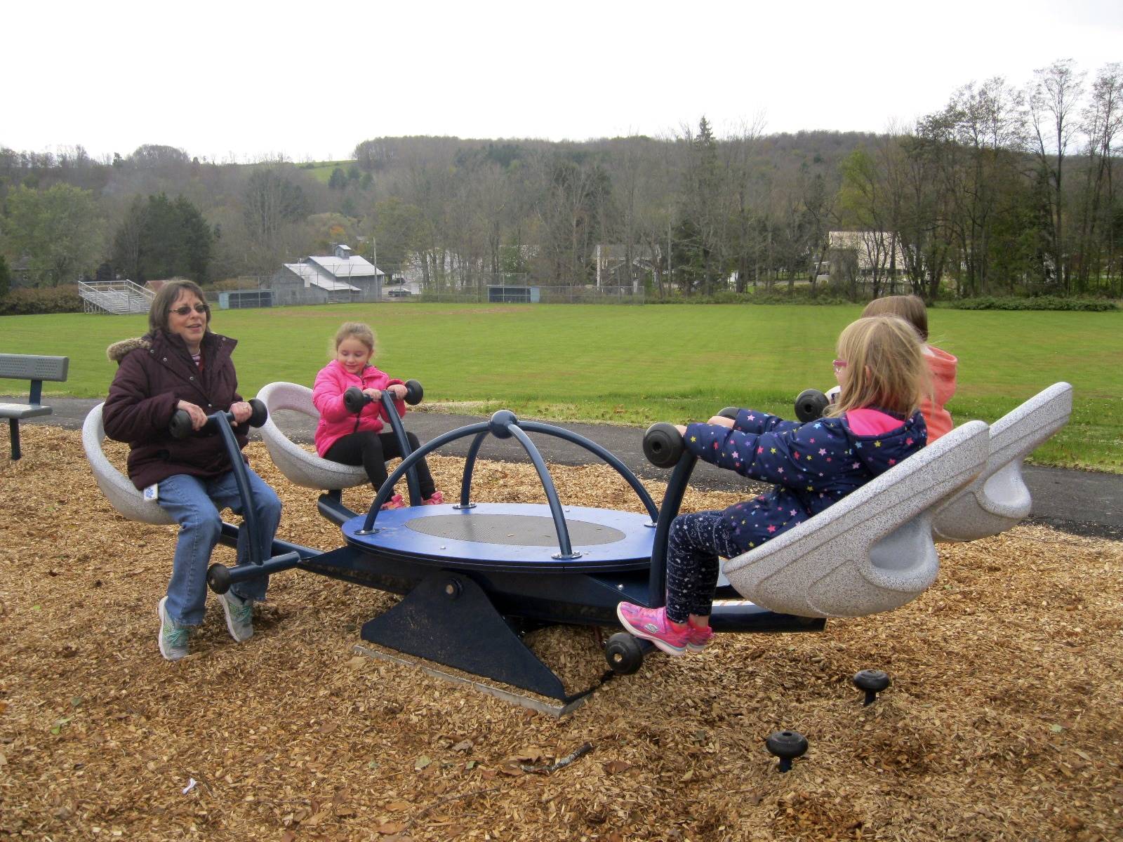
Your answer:
[[[0,146],[217,161],[380,136],[882,131],[970,81],[1123,62],[1121,0],[4,3]]]

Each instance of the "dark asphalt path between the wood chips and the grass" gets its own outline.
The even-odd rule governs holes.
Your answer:
[[[3,399],[26,401],[27,396]],[[47,404],[54,410],[51,415],[25,421],[26,424],[46,423],[69,430],[82,428],[85,414],[99,403],[97,400],[79,397],[51,397]],[[417,433],[424,442],[466,424],[486,420],[482,415],[453,415],[444,412],[411,412],[407,415],[407,429]],[[303,443],[312,441],[313,424],[307,415],[281,412],[277,424],[293,440]],[[637,476],[666,479],[669,470],[656,468],[643,458],[642,429],[614,424],[557,424],[595,441],[614,454]],[[256,437],[254,431],[250,438]],[[532,434],[535,445],[547,461],[559,465],[587,465],[597,463],[595,456],[553,436]],[[472,438],[464,438],[444,448],[440,452],[450,456],[466,456]],[[513,439],[487,440],[480,451],[482,459],[499,461],[526,461],[526,454]],[[1123,476],[1089,470],[1068,470],[1026,465],[1025,484],[1033,496],[1030,520],[1044,523],[1074,534],[1123,540]],[[731,470],[722,470],[706,463],[699,463],[691,482],[706,491],[743,491],[746,496],[761,486],[750,483]]]

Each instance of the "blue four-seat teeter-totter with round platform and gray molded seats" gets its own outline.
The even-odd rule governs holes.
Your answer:
[[[208,577],[212,589],[221,593],[245,578],[298,568],[399,594],[401,601],[363,625],[363,640],[503,681],[567,707],[592,689],[566,694],[558,676],[521,638],[556,623],[619,629],[615,606],[621,600],[663,604],[667,532],[695,465],[681,437],[675,442],[654,434],[652,428],[645,438],[649,458],[673,466],[656,506],[627,466],[601,446],[564,428],[519,421],[506,411],[410,452],[402,422],[383,395],[392,430],[408,456],[360,514],[343,504],[340,491],[366,482],[362,468],[320,459],[276,424],[276,413],[283,410],[317,417],[310,390],[274,383],[258,399],[267,411],[261,433],[271,457],[291,482],[323,492],[319,511],[339,525],[343,546],[321,552],[275,541],[268,559],[235,567],[213,565]],[[993,427],[982,421],[962,424],[825,512],[725,561],[711,619],[714,630],[818,631],[827,617],[889,611],[915,598],[937,577],[933,537],[974,540],[996,534],[1029,512],[1021,461],[1062,427],[1070,412],[1071,387],[1057,384]],[[222,414],[212,418],[220,431],[225,425],[228,432]],[[645,513],[564,505],[528,433],[559,438],[604,460],[636,492]],[[474,466],[490,437],[513,438],[522,446],[546,504],[472,500]],[[104,458],[103,438],[99,405],[86,418],[83,445],[110,503],[128,518],[167,523],[163,511],[144,501]],[[417,505],[413,466],[462,438],[472,443],[458,501]],[[228,441],[232,445],[232,434]],[[382,510],[403,477],[413,505]],[[223,524],[222,540],[234,544],[237,527]],[[620,675],[639,669],[646,651],[649,647],[624,632],[612,634],[605,646],[609,667]]]

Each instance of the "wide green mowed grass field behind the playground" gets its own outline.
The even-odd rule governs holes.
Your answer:
[[[243,393],[272,381],[311,385],[336,328],[369,322],[378,366],[424,384],[426,401],[477,402],[555,421],[704,419],[729,404],[792,417],[806,387],[827,388],[839,331],[855,306],[363,304],[217,311],[236,337]],[[1069,425],[1038,464],[1123,473],[1123,312],[937,310],[932,342],[959,357],[957,422],[994,421],[1057,381],[1076,387]],[[10,315],[0,351],[71,358],[48,394],[101,396],[106,346],[139,336],[146,317]],[[13,381],[0,391],[18,394]],[[25,393],[26,394],[26,393]]]

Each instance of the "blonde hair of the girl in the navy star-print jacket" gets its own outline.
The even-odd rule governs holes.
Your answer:
[[[877,408],[905,418],[929,391],[924,346],[915,329],[896,315],[868,315],[839,336],[839,359],[846,361],[846,386],[827,414]]]

